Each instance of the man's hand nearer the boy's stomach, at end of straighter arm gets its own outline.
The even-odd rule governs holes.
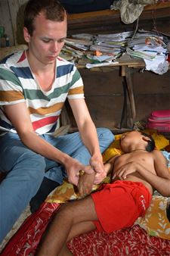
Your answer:
[[[94,172],[96,173],[94,184],[100,183],[107,176],[107,172],[104,168],[103,159],[92,157],[90,160],[91,167],[93,167]]]

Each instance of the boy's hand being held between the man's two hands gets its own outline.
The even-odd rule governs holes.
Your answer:
[[[89,195],[94,184],[95,173],[83,173],[79,176],[78,190],[80,196]]]

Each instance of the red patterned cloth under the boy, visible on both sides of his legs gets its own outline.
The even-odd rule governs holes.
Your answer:
[[[36,214],[26,219],[1,255],[33,256],[51,215],[59,206],[60,204],[44,203]],[[77,236],[68,243],[68,247],[74,256],[170,255],[169,240],[147,236],[138,225],[110,234],[93,231]]]

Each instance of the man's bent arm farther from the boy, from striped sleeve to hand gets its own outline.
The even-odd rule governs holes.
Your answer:
[[[66,155],[46,142],[34,132],[26,104],[23,102],[16,105],[4,106],[4,110],[17,130],[23,144],[45,158],[63,164],[68,173],[70,183],[77,185],[79,170],[85,170],[86,167],[79,163],[79,161],[76,161],[76,159],[71,158],[69,155]],[[88,173],[88,170],[86,170],[86,172]]]

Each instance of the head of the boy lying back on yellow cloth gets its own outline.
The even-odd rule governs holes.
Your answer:
[[[155,148],[155,142],[152,136],[148,135],[147,133],[133,130],[131,132],[122,134],[120,146],[124,152],[135,149],[144,149],[150,152]]]

